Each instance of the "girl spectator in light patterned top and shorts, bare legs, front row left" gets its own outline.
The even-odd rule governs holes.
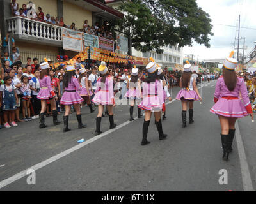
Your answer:
[[[22,75],[21,84],[22,84],[22,87],[20,89],[23,92],[23,97],[21,100],[22,101],[22,115],[23,115],[23,120],[25,122],[28,122],[28,121],[31,121],[32,119],[30,117],[31,90],[30,90],[30,85],[29,85],[27,76]],[[27,112],[28,112],[27,117],[26,117],[26,107],[27,107]]]

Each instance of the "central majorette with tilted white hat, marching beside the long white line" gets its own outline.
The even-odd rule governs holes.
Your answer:
[[[157,78],[158,67],[156,62],[154,62],[152,57],[150,57],[150,60],[152,62],[150,62],[146,67],[149,74],[145,82],[143,82],[143,101],[141,101],[139,105],[139,108],[145,110],[141,145],[147,145],[150,143],[147,140],[147,134],[152,112],[154,112],[159,140],[163,140],[167,136],[163,133],[161,122],[161,110],[164,103],[163,83]]]

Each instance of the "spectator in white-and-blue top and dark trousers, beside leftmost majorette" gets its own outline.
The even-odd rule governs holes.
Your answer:
[[[40,76],[40,71],[38,69],[35,70],[35,77],[31,78],[29,81],[29,85],[31,86],[32,90],[32,106],[35,115],[32,117],[32,119],[38,119],[40,110],[41,110],[41,101],[37,98],[38,92],[40,91],[40,82],[38,80]]]

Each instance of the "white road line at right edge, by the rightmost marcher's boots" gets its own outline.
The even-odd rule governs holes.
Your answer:
[[[255,191],[252,186],[252,177],[250,175],[250,170],[247,163],[246,154],[244,151],[244,145],[243,145],[243,140],[241,138],[238,121],[236,122],[236,142],[237,142],[238,155],[240,159],[240,167],[241,167],[244,191]]]

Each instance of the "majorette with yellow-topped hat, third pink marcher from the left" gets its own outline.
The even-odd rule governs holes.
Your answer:
[[[108,68],[105,62],[101,62],[99,66],[100,77],[97,80],[97,89],[95,90],[95,96],[92,102],[98,105],[98,115],[96,119],[96,131],[95,135],[102,133],[100,131],[101,117],[104,110],[104,105],[107,106],[109,114],[109,129],[116,127],[114,123],[113,106],[115,106],[113,79],[108,75]]]

